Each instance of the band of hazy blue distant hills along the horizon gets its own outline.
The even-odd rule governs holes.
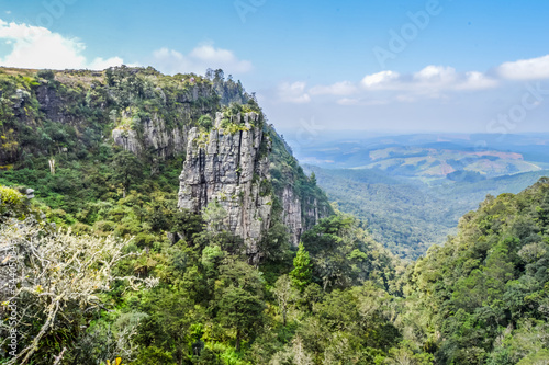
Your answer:
[[[549,167],[549,135],[357,135],[299,146],[295,155],[323,168],[379,168],[406,176],[446,178],[466,170],[493,178]]]

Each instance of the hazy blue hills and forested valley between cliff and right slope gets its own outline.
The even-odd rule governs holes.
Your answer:
[[[410,135],[324,140],[296,155],[340,210],[416,259],[488,194],[518,193],[549,175],[546,144],[549,135]]]

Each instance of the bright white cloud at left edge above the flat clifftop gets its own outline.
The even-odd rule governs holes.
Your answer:
[[[88,61],[82,55],[86,49],[83,43],[42,26],[8,23],[0,19],[0,39],[12,46],[10,54],[0,57],[0,64],[7,67],[103,69],[123,64],[120,57]]]

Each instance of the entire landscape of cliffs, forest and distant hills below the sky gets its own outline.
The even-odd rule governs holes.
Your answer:
[[[2,364],[548,355],[549,181],[526,137],[341,142],[300,166],[222,70],[0,85]]]

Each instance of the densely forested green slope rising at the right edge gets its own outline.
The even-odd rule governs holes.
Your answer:
[[[408,320],[444,364],[549,361],[549,180],[490,196],[407,272]]]

